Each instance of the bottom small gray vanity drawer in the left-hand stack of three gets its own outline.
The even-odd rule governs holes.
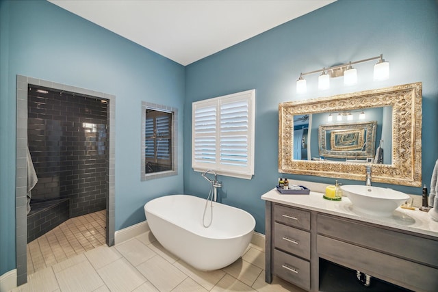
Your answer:
[[[301,258],[274,250],[272,273],[304,289],[310,289],[310,263]]]

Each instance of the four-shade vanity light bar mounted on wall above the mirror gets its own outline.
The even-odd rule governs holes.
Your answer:
[[[305,72],[300,74],[300,78],[296,81],[296,93],[302,94],[307,92],[306,79],[303,78],[304,75],[311,75],[318,72],[322,74],[318,77],[318,89],[326,90],[330,87],[330,78],[344,76],[344,85],[353,85],[357,83],[357,69],[352,68],[352,64],[359,64],[363,62],[372,61],[378,59],[377,64],[374,65],[374,81],[381,81],[389,78],[389,62],[383,59],[383,54],[376,57],[370,57],[368,59],[361,59],[355,62],[348,62],[346,64],[332,66],[329,68],[322,68],[319,70],[313,70],[310,72]]]

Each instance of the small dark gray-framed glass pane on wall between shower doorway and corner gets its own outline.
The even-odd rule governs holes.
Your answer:
[[[177,174],[177,109],[142,103],[142,180]]]

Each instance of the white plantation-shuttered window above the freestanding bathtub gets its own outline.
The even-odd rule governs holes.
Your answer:
[[[250,179],[254,119],[255,90],[192,103],[192,168]]]

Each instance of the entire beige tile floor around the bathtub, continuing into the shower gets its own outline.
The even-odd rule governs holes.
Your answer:
[[[79,222],[87,226],[85,221]],[[70,228],[74,229],[68,226]],[[77,229],[86,229],[93,235],[88,228]],[[60,230],[65,239],[58,231],[57,246],[68,240],[66,227]],[[55,241],[48,237],[38,244]],[[267,284],[265,254],[257,245],[250,244],[242,258],[228,267],[207,272],[198,271],[167,252],[150,231],[111,248],[105,244],[91,248],[92,242],[99,241],[97,235],[93,237],[96,241],[84,241],[83,245],[78,240],[81,248],[75,243],[70,244],[64,254],[53,252],[51,258],[44,258],[46,267],[37,265],[40,268],[29,273],[27,284],[12,291],[303,291],[276,277],[272,284]],[[67,256],[73,252],[77,254]]]

